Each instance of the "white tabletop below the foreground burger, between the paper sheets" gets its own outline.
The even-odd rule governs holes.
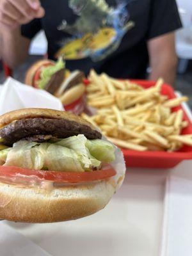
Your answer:
[[[4,221],[51,255],[134,255],[159,253],[165,170],[129,170],[108,206],[87,218],[28,225]]]

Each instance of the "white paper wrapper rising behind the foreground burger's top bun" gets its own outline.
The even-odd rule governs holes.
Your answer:
[[[22,108],[63,110],[60,100],[44,90],[36,90],[8,77],[0,86],[0,115]]]

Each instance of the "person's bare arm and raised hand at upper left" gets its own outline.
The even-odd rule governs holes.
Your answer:
[[[0,0],[1,57],[11,68],[28,56],[30,40],[20,33],[20,25],[44,15],[39,0]]]

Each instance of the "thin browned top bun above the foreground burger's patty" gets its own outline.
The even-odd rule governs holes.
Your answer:
[[[50,119],[65,119],[74,122],[78,122],[82,125],[88,125],[90,128],[95,130],[95,127],[87,122],[80,116],[76,116],[67,111],[59,111],[47,108],[25,108],[19,109],[12,112],[8,112],[0,116],[0,129],[10,124],[15,120],[26,119],[26,118],[50,118]]]

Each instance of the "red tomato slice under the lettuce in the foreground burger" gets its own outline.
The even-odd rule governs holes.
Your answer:
[[[26,178],[38,178],[43,180],[51,180],[54,182],[90,182],[94,180],[104,180],[116,175],[115,170],[111,166],[106,166],[103,170],[92,172],[55,172],[24,169],[15,166],[0,166],[0,177],[16,177],[24,175]]]

